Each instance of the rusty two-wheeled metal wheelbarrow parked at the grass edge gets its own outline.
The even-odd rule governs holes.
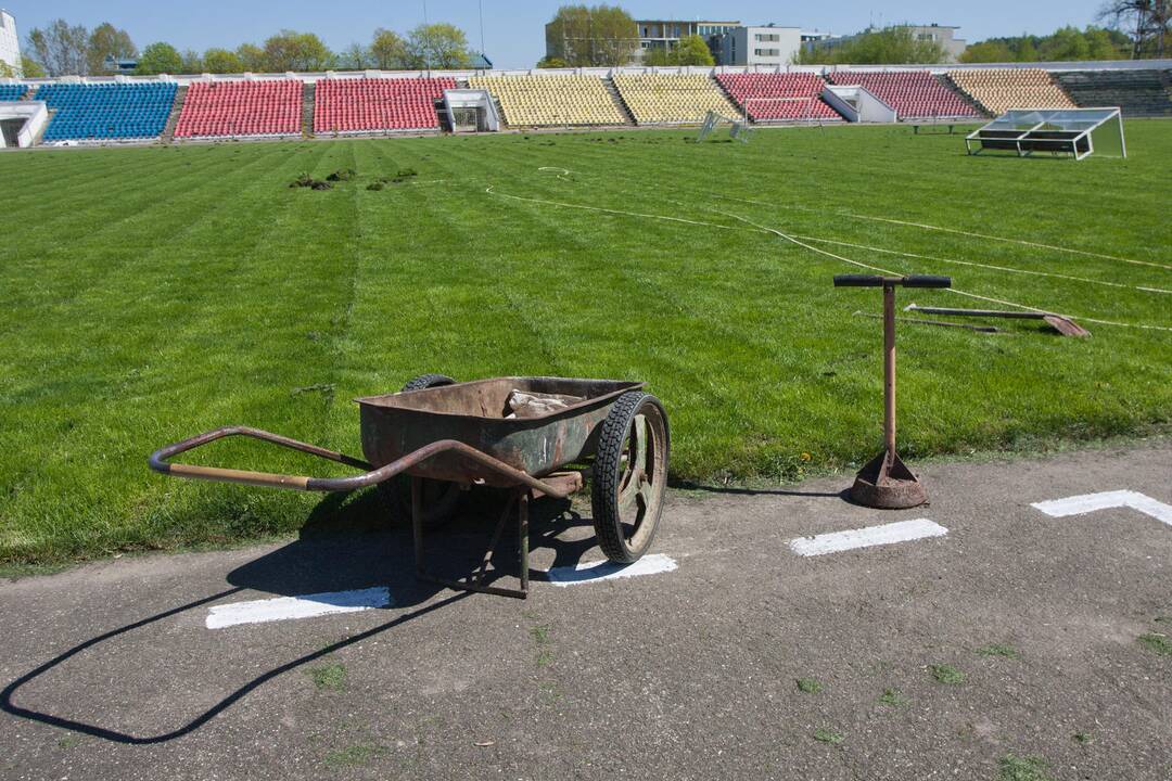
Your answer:
[[[409,484],[416,575],[450,588],[524,598],[529,594],[530,501],[540,495],[565,499],[584,486],[587,473],[592,477],[594,530],[607,559],[631,563],[650,547],[662,511],[670,439],[663,405],[643,392],[643,385],[557,377],[456,383],[442,375],[423,375],[398,393],[355,399],[366,460],[257,429],[229,426],[156,451],[150,467],[182,478],[297,491],[347,492]],[[510,400],[518,392],[566,400],[559,409],[513,417]],[[366,472],[312,478],[171,460],[225,437],[251,437]],[[585,468],[567,470],[571,465]],[[475,486],[509,489],[489,552],[478,571],[466,580],[436,577],[425,567],[424,529],[450,509],[455,492]],[[402,491],[404,486],[397,487]],[[520,589],[491,587],[484,582],[489,562],[513,508]]]

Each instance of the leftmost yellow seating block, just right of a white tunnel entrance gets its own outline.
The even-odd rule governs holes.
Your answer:
[[[629,124],[598,76],[473,76],[468,83],[472,89],[489,90],[500,102],[509,125]]]

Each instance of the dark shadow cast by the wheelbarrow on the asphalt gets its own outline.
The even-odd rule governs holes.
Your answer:
[[[334,653],[348,645],[362,643],[376,635],[381,635],[471,596],[469,592],[458,592],[440,602],[424,604],[428,600],[436,596],[442,588],[415,580],[410,530],[387,529],[386,514],[382,512],[384,507],[381,500],[377,496],[369,495],[375,493],[374,491],[368,491],[363,492],[363,495],[352,499],[327,496],[311,513],[295,542],[291,542],[229,573],[227,582],[232,588],[113,629],[59,653],[8,684],[0,692],[0,710],[22,719],[39,721],[62,729],[71,729],[113,742],[130,745],[163,744],[199,729],[211,719],[232,707],[250,692],[280,674]],[[437,574],[445,574],[454,577],[468,575],[471,571],[468,567],[469,563],[475,569],[483,561],[489,536],[492,532],[492,523],[485,522],[485,516],[495,518],[499,514],[499,505],[493,501],[491,495],[486,496],[485,501],[479,502],[479,505],[478,508],[470,508],[470,512],[462,514],[461,520],[442,529],[436,529],[429,535],[436,542],[429,548],[429,563]],[[559,535],[567,529],[591,526],[590,521],[584,521],[580,515],[570,509],[570,502],[566,500],[543,499],[533,502],[530,522],[532,547],[534,549],[541,547],[553,548],[554,566],[557,567],[572,567],[577,564],[581,556],[594,547],[593,534],[578,541],[564,541],[559,539]],[[440,544],[441,537],[442,544]],[[517,548],[515,546],[516,534],[512,535],[511,540],[505,534],[502,546],[498,549],[498,557],[502,561],[493,562],[493,569],[489,570],[488,582],[517,575]],[[499,569],[497,569],[498,566]],[[540,574],[534,573],[533,580],[543,578]],[[233,594],[240,594],[245,590],[257,590],[280,596],[299,596],[368,588],[372,585],[387,585],[389,588],[391,609],[415,609],[364,632],[347,637],[338,643],[273,667],[238,687],[198,717],[171,732],[148,737],[132,735],[101,725],[86,724],[75,719],[21,707],[14,703],[16,693],[23,686],[55,670],[83,651],[184,611],[211,604]],[[146,645],[146,648],[152,646]]]

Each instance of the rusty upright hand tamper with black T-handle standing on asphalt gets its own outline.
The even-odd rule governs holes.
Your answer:
[[[895,452],[895,288],[947,288],[947,276],[878,276],[839,274],[834,287],[883,288],[884,341],[884,452],[871,459],[854,478],[851,499],[867,507],[904,509],[928,500],[924,485]]]

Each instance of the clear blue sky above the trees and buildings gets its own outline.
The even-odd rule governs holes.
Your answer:
[[[531,67],[545,49],[543,26],[559,0],[479,0],[484,7],[484,41],[489,56],[502,68]],[[763,0],[620,0],[635,18],[731,18],[745,23],[777,22],[806,29],[852,33],[868,22],[901,21],[958,25],[960,35],[979,41],[993,35],[1049,33],[1063,25],[1082,27],[1095,21],[1102,0],[983,0],[979,4],[935,1],[875,2],[765,2]],[[423,21],[423,0],[200,0],[199,2],[135,2],[131,0],[0,0],[25,33],[62,16],[71,23],[93,27],[110,21],[130,32],[139,48],[168,41],[180,49],[199,52],[219,46],[236,48],[245,41],[261,42],[281,28],[319,34],[327,44],[341,49],[352,41],[368,41],[376,27],[407,30]],[[943,9],[943,6],[952,6]],[[468,33],[479,48],[478,0],[428,0],[430,21],[452,22]]]

